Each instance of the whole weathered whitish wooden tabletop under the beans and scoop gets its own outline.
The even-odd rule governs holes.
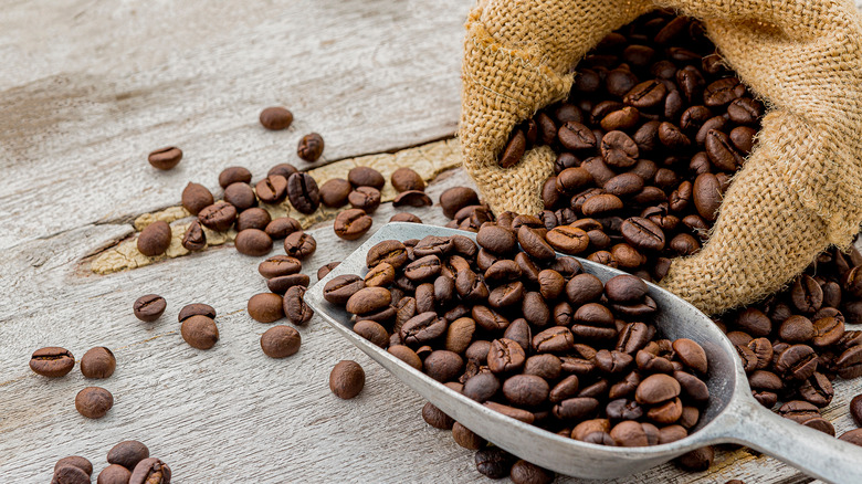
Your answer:
[[[451,138],[472,2],[191,3],[0,3],[0,482],[48,482],[54,462],[71,454],[98,472],[107,450],[126,439],[144,441],[181,483],[487,482],[472,452],[422,421],[418,396],[323,320],[299,329],[297,355],[265,357],[259,341],[269,326],[245,313],[249,297],[265,291],[260,259],[222,245],[135,270],[92,270],[99,255],[129,243],[135,221],[176,211],[162,212],[190,180],[214,190],[228,166],[246,166],[255,179],[277,162],[307,167],[295,146],[308,131],[326,139],[317,165],[398,157]],[[293,111],[288,131],[261,128],[257,114],[269,105]],[[157,172],[146,155],[164,145],[186,155],[178,168]],[[455,141],[410,156],[417,152],[458,162]],[[437,200],[464,183],[455,169],[428,191]],[[385,204],[376,227],[393,212]],[[445,222],[438,207],[416,212]],[[311,230],[318,251],[304,272],[313,281],[319,265],[358,244],[336,239],[330,223]],[[165,316],[149,325],[132,314],[147,293],[168,299]],[[177,312],[193,302],[219,312],[221,340],[212,350],[192,349],[179,335]],[[49,345],[77,357],[107,346],[117,371],[101,381],[77,368],[42,378],[27,361]],[[359,361],[367,373],[354,400],[328,389],[340,359]],[[115,397],[102,420],[74,408],[91,385]],[[837,385],[826,415],[839,432],[853,427],[847,404],[859,387]],[[667,464],[616,482],[729,478],[810,481],[727,448],[707,473]]]

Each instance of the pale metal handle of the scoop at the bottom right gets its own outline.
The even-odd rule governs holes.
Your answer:
[[[862,483],[862,446],[779,417],[750,398],[735,407],[736,418],[723,429],[722,440],[757,449],[828,483]]]

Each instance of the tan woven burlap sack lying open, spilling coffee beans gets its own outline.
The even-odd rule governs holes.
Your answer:
[[[464,167],[500,213],[536,213],[554,154],[509,169],[508,134],[563,99],[572,66],[655,8],[701,19],[768,107],[758,147],[725,193],[712,238],[662,284],[706,313],[777,291],[862,221],[862,21],[850,0],[487,0],[467,19],[460,137]]]

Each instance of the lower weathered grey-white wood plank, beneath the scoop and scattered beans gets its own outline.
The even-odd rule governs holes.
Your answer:
[[[469,179],[456,170],[429,192],[437,199],[443,189],[464,183]],[[383,204],[375,214],[376,227],[392,212],[391,204]],[[416,212],[427,222],[445,221],[438,207]],[[261,259],[223,246],[107,276],[75,273],[81,256],[130,230],[90,225],[9,251],[12,282],[0,286],[0,408],[8,409],[0,420],[0,455],[8,456],[0,461],[0,475],[41,481],[61,456],[83,453],[99,460],[115,441],[136,438],[190,482],[223,482],[242,473],[255,482],[287,476],[403,482],[417,470],[419,481],[486,482],[473,467],[472,452],[424,424],[418,396],[320,319],[299,329],[299,354],[280,361],[263,356],[259,336],[269,325],[254,323],[244,311],[251,295],[265,291],[256,273]],[[318,252],[303,271],[312,280],[318,265],[359,244],[337,240],[328,223],[312,233]],[[151,325],[130,312],[132,302],[147,292],[169,302],[166,315]],[[191,302],[219,311],[221,340],[211,351],[193,350],[179,336],[176,314]],[[85,380],[77,369],[61,380],[41,378],[27,360],[45,345],[64,346],[78,357],[90,347],[108,346],[117,355],[117,372],[104,381]],[[368,376],[364,393],[348,402],[327,388],[328,371],[344,358],[359,361]],[[88,385],[115,394],[116,406],[104,420],[87,421],[74,410],[75,393]],[[861,386],[837,385],[827,417],[839,431],[853,427],[847,404]],[[771,459],[725,451],[709,473],[685,473],[669,464],[616,482],[785,483],[797,482],[797,475]]]

